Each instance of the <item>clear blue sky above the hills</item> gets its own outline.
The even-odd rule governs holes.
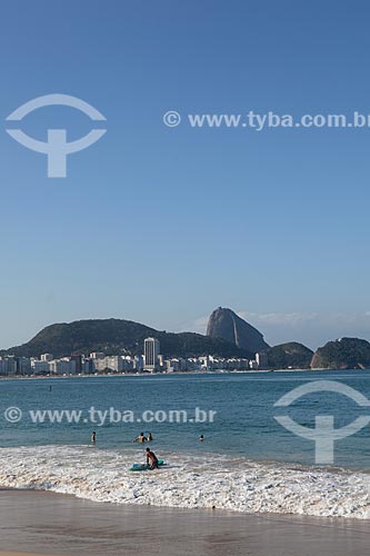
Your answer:
[[[2,2],[0,347],[80,318],[198,329],[219,305],[271,342],[369,339],[370,130],[162,123],[369,113],[369,19],[364,0]],[[107,117],[66,179],[4,131],[56,92]],[[50,127],[73,139],[91,122],[68,108],[22,122]]]

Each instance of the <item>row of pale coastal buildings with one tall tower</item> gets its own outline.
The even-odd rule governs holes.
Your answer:
[[[93,375],[103,373],[189,373],[212,370],[259,370],[268,367],[266,354],[256,354],[256,359],[218,358],[210,355],[202,357],[166,359],[160,354],[157,338],[144,340],[143,355],[120,356],[96,351],[89,356],[76,354],[70,357],[54,358],[52,354],[34,357],[0,357],[1,376],[30,375]]]

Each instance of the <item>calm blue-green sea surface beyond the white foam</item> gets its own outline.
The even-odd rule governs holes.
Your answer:
[[[313,443],[282,428],[274,416],[289,415],[300,425],[313,427],[317,415],[332,415],[339,428],[370,414],[370,409],[359,407],[352,399],[329,391],[306,395],[288,408],[273,407],[282,395],[312,380],[336,380],[370,398],[367,370],[6,379],[0,381],[0,447],[88,445],[96,430],[97,447],[131,449],[132,438],[141,430],[151,430],[157,450],[311,465]],[[9,407],[21,409],[19,423],[4,418]],[[107,417],[106,424],[99,426],[89,420],[91,407],[133,411],[136,423],[109,423]],[[193,418],[197,407],[217,411],[213,423],[137,421],[146,410],[183,409]],[[30,410],[48,409],[82,410],[82,416],[78,424],[67,419],[32,423]],[[201,434],[204,443],[198,441]],[[336,443],[334,465],[370,469],[370,425]]]

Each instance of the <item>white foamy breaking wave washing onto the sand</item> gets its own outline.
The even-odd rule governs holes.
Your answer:
[[[243,458],[160,454],[166,468],[130,473],[140,450],[83,446],[2,448],[0,487],[34,488],[96,502],[243,513],[370,518],[370,475]]]

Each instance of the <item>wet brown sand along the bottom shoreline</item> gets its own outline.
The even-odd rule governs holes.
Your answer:
[[[0,556],[364,556],[369,522],[98,504],[0,490]]]

